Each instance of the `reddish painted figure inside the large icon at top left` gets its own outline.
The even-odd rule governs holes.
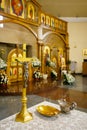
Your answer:
[[[22,0],[11,0],[13,13],[17,16],[22,16],[23,13],[23,2]]]

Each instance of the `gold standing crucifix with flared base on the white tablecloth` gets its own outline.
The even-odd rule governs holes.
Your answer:
[[[26,55],[26,54],[25,54]],[[22,92],[22,108],[21,111],[16,115],[17,122],[28,122],[33,119],[31,113],[27,110],[27,97],[26,97],[26,88],[28,86],[28,65],[29,65],[29,58],[24,57],[22,59],[16,59],[18,62],[23,64],[24,67],[24,86]]]

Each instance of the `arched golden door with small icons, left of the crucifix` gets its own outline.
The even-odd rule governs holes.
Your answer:
[[[23,65],[17,62],[15,59],[22,58],[23,50],[21,49],[12,49],[7,58],[7,75],[9,78],[9,82],[16,82],[22,80],[23,75]]]

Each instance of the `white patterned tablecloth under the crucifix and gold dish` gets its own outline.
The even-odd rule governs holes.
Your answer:
[[[0,130],[87,130],[87,113],[72,110],[69,114],[45,117],[36,111],[41,104],[59,108],[56,104],[44,101],[28,109],[33,114],[33,120],[15,122],[15,114],[0,121]]]

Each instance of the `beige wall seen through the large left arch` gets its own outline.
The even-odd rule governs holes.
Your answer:
[[[5,49],[7,54],[13,48],[11,47],[10,49],[10,46],[14,45],[15,48],[16,44],[21,45],[26,43],[32,48],[30,51],[31,54],[28,53],[29,56],[37,56],[37,40],[35,36],[29,30],[17,24],[11,25],[8,23],[4,28],[0,29],[0,42],[2,43],[0,44],[0,48]],[[8,45],[9,49],[6,49]]]

